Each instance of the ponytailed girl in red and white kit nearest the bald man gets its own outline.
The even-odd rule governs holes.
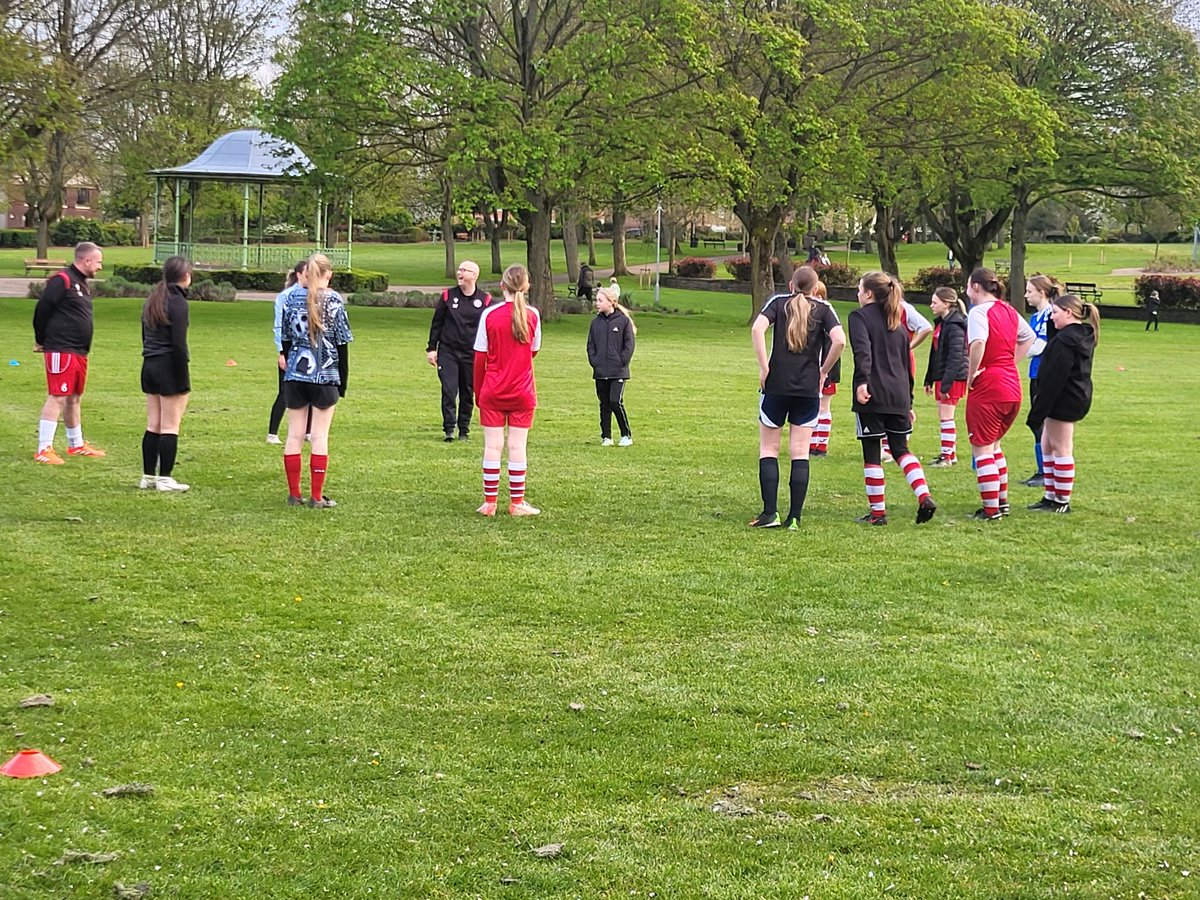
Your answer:
[[[494,516],[500,491],[504,428],[509,446],[509,515],[536,516],[526,502],[526,444],[538,406],[533,358],[541,349],[541,316],[527,305],[529,272],[510,265],[500,280],[503,304],[484,311],[475,334],[475,406],[484,426],[484,505],[476,512]]]

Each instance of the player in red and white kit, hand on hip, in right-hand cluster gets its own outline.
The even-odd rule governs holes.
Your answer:
[[[1021,410],[1016,360],[1034,336],[1004,300],[1004,286],[991,269],[971,272],[967,298],[967,436],[983,500],[973,517],[995,522],[1008,514],[1008,463],[1000,442]]]

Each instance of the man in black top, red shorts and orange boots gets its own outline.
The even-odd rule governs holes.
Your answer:
[[[103,252],[90,241],[76,245],[74,262],[46,281],[34,307],[34,353],[46,354],[47,398],[37,422],[36,462],[61,466],[54,451],[59,419],[67,427],[67,455],[104,456],[83,439],[80,407],[88,383],[88,353],[95,331],[88,278],[103,269]]]

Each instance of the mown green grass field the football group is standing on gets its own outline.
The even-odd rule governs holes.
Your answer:
[[[0,779],[0,896],[1198,895],[1200,331],[1105,323],[1070,516],[1014,487],[968,521],[960,466],[918,529],[892,467],[893,523],[856,526],[841,394],[803,529],[762,533],[744,304],[664,302],[704,312],[638,317],[629,449],[598,446],[587,319],[546,326],[544,514],[484,521],[427,311],[350,310],[316,511],[263,443],[269,305],[193,306],[192,491],[160,496],[137,304],[97,306],[108,457],[49,469],[32,304],[0,300],[0,755],[64,764]],[[917,425],[928,460],[924,396]],[[1027,432],[1006,448],[1024,478]]]

